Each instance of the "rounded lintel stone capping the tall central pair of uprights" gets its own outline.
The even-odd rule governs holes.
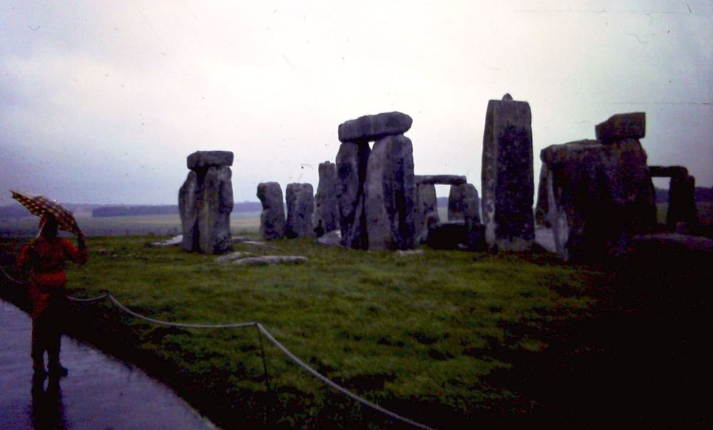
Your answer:
[[[381,137],[401,135],[411,128],[414,120],[401,112],[386,112],[378,115],[364,115],[339,125],[340,142],[368,142]]]

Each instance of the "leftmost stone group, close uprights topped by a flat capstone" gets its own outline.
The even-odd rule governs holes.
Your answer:
[[[194,152],[186,164],[191,172],[178,192],[183,249],[209,254],[230,251],[232,152]]]

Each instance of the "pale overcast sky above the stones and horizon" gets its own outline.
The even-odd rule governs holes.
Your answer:
[[[481,188],[489,99],[544,147],[647,112],[650,164],[713,185],[712,1],[0,0],[0,204],[176,204],[195,150],[235,200],[310,182],[340,122],[414,118],[416,174]],[[447,190],[438,190],[447,195]]]

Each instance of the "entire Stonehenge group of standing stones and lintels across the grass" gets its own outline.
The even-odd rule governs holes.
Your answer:
[[[339,125],[333,162],[319,164],[312,184],[288,184],[285,204],[277,182],[260,183],[260,236],[314,237],[352,249],[529,251],[535,220],[551,228],[565,261],[591,261],[627,252],[634,236],[657,226],[652,177],[669,177],[666,229],[697,229],[695,179],[679,166],[649,166],[640,139],[645,112],[612,115],[595,126],[596,140],[550,145],[540,151],[534,203],[530,105],[506,94],[490,100],[483,130],[481,187],[453,174],[416,175],[413,120],[401,112],[364,115]],[[179,191],[183,249],[231,249],[233,154],[195,152]],[[448,216],[438,214],[436,185],[448,185]]]

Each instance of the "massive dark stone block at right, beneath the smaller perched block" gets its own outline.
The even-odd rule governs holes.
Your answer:
[[[548,218],[565,260],[619,255],[632,234],[655,228],[654,189],[638,140],[552,145],[540,159],[548,168]]]

